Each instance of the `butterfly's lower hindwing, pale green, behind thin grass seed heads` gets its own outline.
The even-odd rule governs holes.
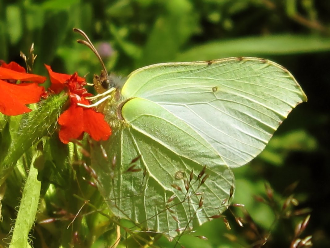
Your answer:
[[[116,216],[172,239],[226,209],[233,173],[198,133],[146,99],[129,100],[122,117],[128,125],[103,143],[113,165],[92,146],[98,188]]]

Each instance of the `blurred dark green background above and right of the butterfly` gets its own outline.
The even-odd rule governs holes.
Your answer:
[[[294,195],[299,206],[292,211],[310,208],[304,235],[313,235],[314,247],[330,247],[330,1],[0,0],[0,59],[24,65],[19,51],[27,55],[34,42],[34,73],[46,75],[46,63],[56,72],[88,73],[91,82],[102,68],[88,48],[77,44],[81,37],[73,27],[85,31],[108,70],[123,77],[158,62],[231,56],[270,59],[291,71],[308,102],[294,109],[265,151],[234,170],[234,202],[245,204],[262,234],[271,228],[265,247],[290,247],[303,217],[281,218],[273,226],[274,207],[253,196],[267,198],[264,182],[269,182],[280,204],[284,189],[298,182]],[[253,245],[258,237],[227,214],[232,230],[217,219],[182,236],[182,245],[258,247]],[[174,244],[161,239],[156,246]],[[94,247],[104,247],[102,240]]]

